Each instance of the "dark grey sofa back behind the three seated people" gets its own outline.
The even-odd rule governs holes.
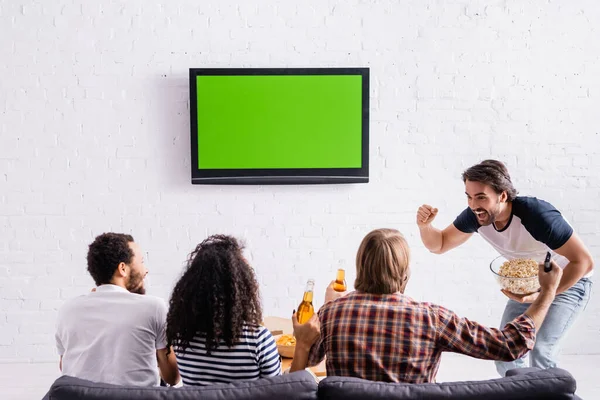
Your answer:
[[[93,383],[69,376],[58,378],[45,400],[562,400],[574,395],[575,379],[552,368],[512,370],[505,378],[426,384],[370,382],[328,377],[318,385],[306,371],[250,382],[205,387],[136,387]]]

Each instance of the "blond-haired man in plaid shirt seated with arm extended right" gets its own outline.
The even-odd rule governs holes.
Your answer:
[[[540,295],[503,329],[487,328],[404,294],[410,250],[400,232],[377,229],[360,244],[355,291],[319,310],[320,339],[308,364],[327,355],[327,376],[384,382],[434,382],[444,351],[514,360],[533,348],[562,271],[540,269]],[[294,320],[295,329],[300,329]]]

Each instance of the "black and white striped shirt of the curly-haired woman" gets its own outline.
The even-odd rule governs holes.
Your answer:
[[[203,386],[281,375],[281,361],[271,332],[263,326],[244,326],[233,347],[217,346],[206,354],[205,340],[197,336],[181,352],[175,348],[184,385]]]

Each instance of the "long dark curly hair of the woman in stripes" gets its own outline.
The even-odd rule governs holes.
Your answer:
[[[185,352],[201,335],[208,354],[233,346],[244,325],[258,326],[262,307],[258,282],[233,237],[213,235],[190,254],[173,289],[167,314],[167,348]]]

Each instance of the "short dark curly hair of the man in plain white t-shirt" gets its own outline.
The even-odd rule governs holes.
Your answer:
[[[90,244],[87,262],[88,272],[96,285],[110,283],[117,267],[124,262],[129,264],[133,250],[129,247],[133,236],[124,233],[103,233]]]

